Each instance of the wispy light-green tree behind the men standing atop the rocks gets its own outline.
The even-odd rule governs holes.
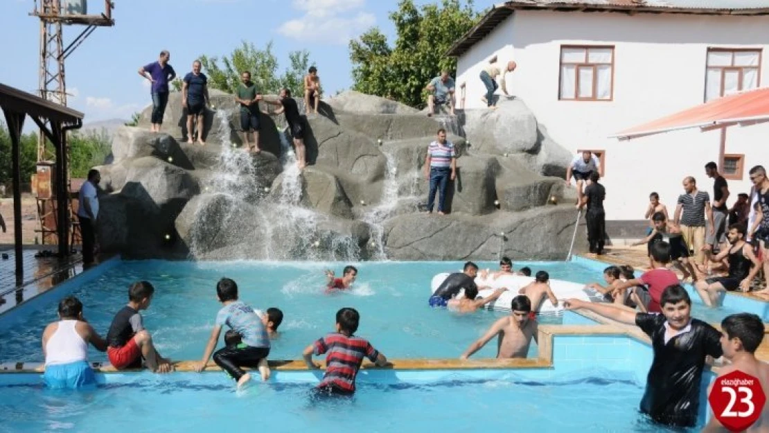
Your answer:
[[[278,72],[278,57],[272,52],[272,42],[261,49],[244,41],[230,55],[200,57],[203,71],[208,75],[209,88],[233,92],[240,83],[241,72],[249,71],[260,92],[275,94],[281,87],[286,87],[293,95],[303,95],[302,78],[310,65],[310,53],[307,50],[289,52],[288,61],[290,65],[281,75]],[[173,84],[177,90],[181,89],[181,81]]]

